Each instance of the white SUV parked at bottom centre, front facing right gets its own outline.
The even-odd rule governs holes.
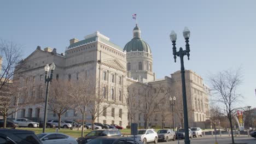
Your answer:
[[[156,133],[154,129],[139,129],[138,135],[135,136],[135,139],[143,143],[158,143],[158,133]]]

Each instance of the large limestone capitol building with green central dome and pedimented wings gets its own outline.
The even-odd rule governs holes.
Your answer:
[[[100,32],[86,35],[83,40],[71,39],[65,53],[57,53],[56,49],[50,47],[41,49],[38,46],[21,62],[26,63],[28,68],[15,74],[16,77],[23,75],[17,79],[18,82],[33,83],[28,88],[27,95],[38,101],[18,111],[17,118],[43,121],[44,66],[54,62],[56,68],[53,79],[77,80],[78,77],[94,77],[94,83],[99,83],[98,88],[106,92],[106,101],[113,102],[113,105],[107,107],[106,112],[102,113],[96,122],[118,124],[123,127],[136,122],[144,127],[147,121],[148,125],[152,126],[163,124],[172,127],[169,97],[176,97],[174,122],[175,127],[178,127],[178,124],[183,122],[183,115],[179,115],[183,112],[181,73],[176,71],[170,76],[156,79],[152,50],[141,37],[141,29],[136,25],[133,28],[133,38],[124,48],[112,43]],[[185,80],[189,127],[205,127],[203,124],[208,119],[209,88],[203,83],[202,77],[192,70],[185,70]],[[146,87],[152,89],[152,94],[143,93],[143,88]],[[161,107],[164,107],[165,111]],[[58,119],[56,113],[49,110],[47,118]],[[82,115],[79,110],[70,109],[61,119],[81,121]],[[86,122],[90,120],[91,116],[88,113]]]

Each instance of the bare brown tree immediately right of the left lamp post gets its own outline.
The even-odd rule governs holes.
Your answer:
[[[59,129],[61,127],[61,116],[67,110],[72,109],[73,101],[70,99],[71,83],[68,81],[53,80],[49,90],[49,110],[59,117]]]

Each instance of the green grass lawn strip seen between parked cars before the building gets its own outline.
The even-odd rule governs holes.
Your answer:
[[[22,129],[22,130],[31,130],[34,131],[36,134],[40,134],[43,132],[43,128],[16,128],[16,129]],[[157,132],[159,129],[155,129]],[[45,129],[46,133],[55,133],[55,129],[51,128],[46,128]],[[86,130],[84,131],[84,135],[88,134],[91,130]],[[131,129],[121,129],[120,130],[123,135],[130,135],[131,134]],[[80,130],[71,130],[71,129],[60,129],[59,133],[67,134],[69,136],[78,138],[81,136],[81,131]]]

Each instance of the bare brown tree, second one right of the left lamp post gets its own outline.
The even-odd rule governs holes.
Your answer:
[[[82,125],[85,124],[85,115],[88,112],[88,106],[91,101],[91,95],[95,94],[96,87],[92,85],[92,79],[79,79],[78,81],[74,81],[71,84],[71,91],[69,91],[69,95],[75,101],[75,106],[78,107],[80,112],[82,113]],[[82,127],[82,137],[84,136],[84,126]]]

